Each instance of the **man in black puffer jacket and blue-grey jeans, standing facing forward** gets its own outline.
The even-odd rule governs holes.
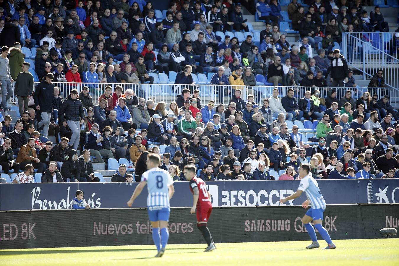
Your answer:
[[[85,122],[85,112],[81,100],[77,99],[77,94],[77,89],[71,90],[71,94],[62,104],[58,116],[59,122],[62,123],[60,126],[68,126],[71,129],[72,136],[69,145],[73,146],[75,150],[79,146],[81,124]]]

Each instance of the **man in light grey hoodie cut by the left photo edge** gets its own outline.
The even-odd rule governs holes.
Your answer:
[[[14,79],[11,77],[10,73],[10,61],[7,58],[8,51],[10,48],[7,46],[3,46],[1,48],[1,56],[0,56],[0,87],[1,87],[1,97],[2,102],[0,106],[2,106],[3,110],[7,110],[7,101],[12,96],[12,87],[11,83],[14,82]]]

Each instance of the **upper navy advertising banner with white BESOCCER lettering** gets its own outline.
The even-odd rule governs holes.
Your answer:
[[[279,199],[294,193],[298,180],[208,181],[213,207],[277,206]],[[318,180],[327,204],[399,203],[399,179]],[[34,183],[1,184],[0,211],[71,209],[77,189],[92,208],[125,208],[138,183]],[[172,207],[191,207],[188,182],[175,182]],[[147,189],[134,201],[145,208]],[[300,205],[306,195],[284,203]]]

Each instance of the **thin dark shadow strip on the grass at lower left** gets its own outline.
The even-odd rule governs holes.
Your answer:
[[[198,248],[168,248],[168,250],[192,250]],[[155,248],[126,248],[126,249],[103,249],[103,250],[13,250],[0,251],[0,255],[28,255],[28,254],[62,254],[62,253],[90,253],[90,252],[123,252],[123,251],[147,251]]]

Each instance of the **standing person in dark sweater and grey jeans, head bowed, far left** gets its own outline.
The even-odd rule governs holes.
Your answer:
[[[34,89],[34,80],[32,74],[29,72],[30,63],[22,63],[22,71],[15,81],[14,94],[18,98],[18,108],[20,114],[28,110],[29,98],[32,97]],[[22,109],[22,106],[24,107]]]

